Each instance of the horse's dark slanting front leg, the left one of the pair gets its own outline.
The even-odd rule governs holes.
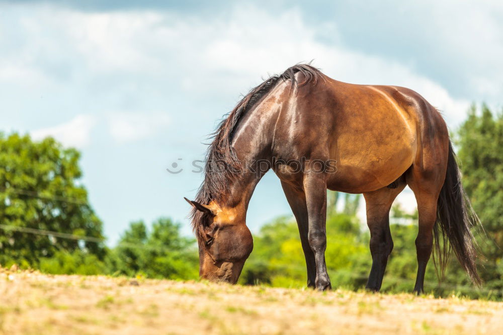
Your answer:
[[[313,250],[311,250],[308,240],[309,223],[307,216],[306,194],[304,191],[296,189],[283,181],[281,182],[281,186],[283,187],[286,199],[292,208],[293,215],[295,215],[295,219],[297,220],[297,225],[299,227],[300,241],[306,258],[307,286],[314,287],[314,281],[316,280],[316,263],[314,260]]]

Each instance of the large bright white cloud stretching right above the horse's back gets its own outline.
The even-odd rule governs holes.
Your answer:
[[[249,16],[254,19],[245,20]],[[266,24],[257,27],[255,22]],[[315,58],[314,65],[334,79],[413,89],[442,110],[451,124],[464,119],[469,106],[469,101],[453,98],[445,87],[414,72],[407,64],[351,50],[339,42],[326,44],[318,41],[317,27],[307,26],[296,10],[276,18],[253,8],[236,10],[228,27],[234,29],[222,29],[215,38],[202,45],[201,58],[210,64],[209,69],[259,78],[258,73],[264,74],[266,69],[281,72],[300,60]],[[327,29],[332,29],[331,34],[339,35],[336,26]]]

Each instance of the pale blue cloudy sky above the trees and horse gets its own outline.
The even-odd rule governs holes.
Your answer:
[[[83,184],[113,245],[169,216],[191,234],[207,135],[241,94],[313,60],[341,81],[413,89],[451,130],[471,103],[503,104],[500,1],[0,0],[0,131],[82,152]],[[170,174],[166,168],[178,174]],[[397,199],[412,211],[413,194]],[[268,173],[253,232],[291,215]],[[359,216],[364,218],[364,206]]]

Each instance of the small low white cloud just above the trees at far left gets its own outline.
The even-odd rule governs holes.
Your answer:
[[[42,128],[31,132],[31,137],[41,140],[52,136],[66,146],[82,148],[91,142],[91,130],[96,124],[92,115],[79,114],[71,121],[54,127]]]

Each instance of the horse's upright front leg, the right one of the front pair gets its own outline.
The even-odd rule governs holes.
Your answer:
[[[318,290],[330,289],[330,278],[326,272],[326,175],[308,173],[304,176],[308,214],[308,241],[316,263],[315,287]]]

